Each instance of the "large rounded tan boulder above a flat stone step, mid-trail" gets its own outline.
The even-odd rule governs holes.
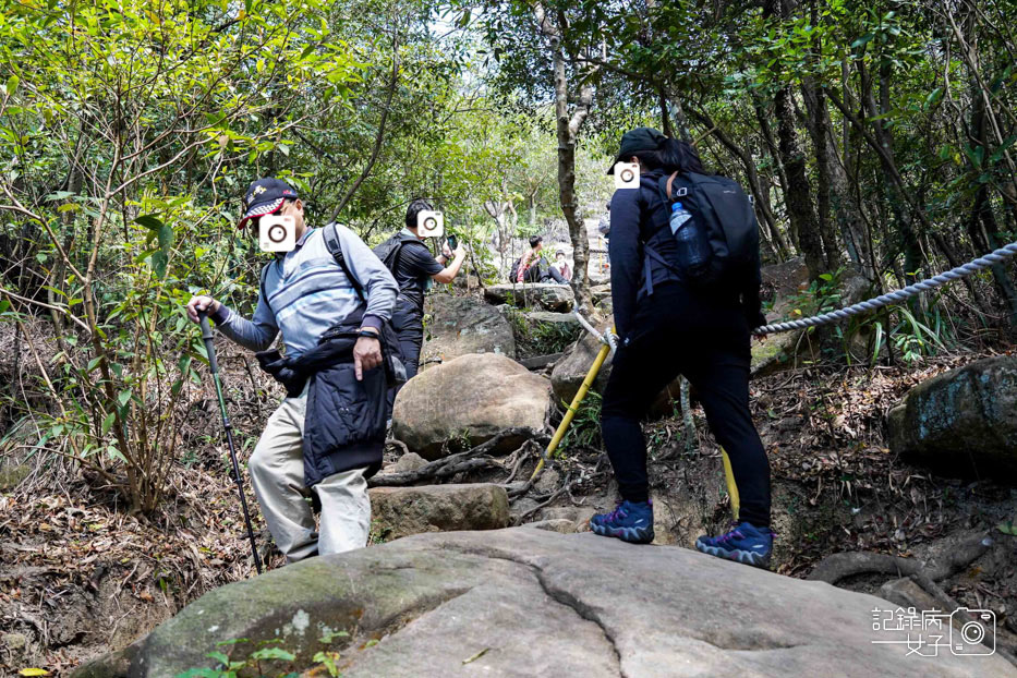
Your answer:
[[[538,431],[549,408],[546,378],[505,355],[471,353],[410,379],[396,397],[392,432],[410,450],[435,460],[463,444],[480,445],[505,428]],[[503,451],[522,443],[507,437]]]

